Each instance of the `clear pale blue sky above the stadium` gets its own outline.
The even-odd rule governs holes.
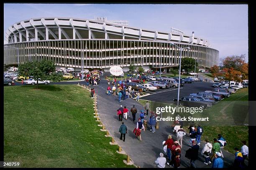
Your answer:
[[[128,20],[128,26],[169,32],[178,28],[206,38],[220,57],[246,54],[248,61],[247,5],[172,4],[4,4],[4,33],[21,20],[38,17],[73,17]]]

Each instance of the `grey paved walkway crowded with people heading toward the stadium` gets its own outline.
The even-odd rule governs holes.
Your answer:
[[[128,134],[126,134],[125,142],[120,140],[120,133],[118,133],[119,127],[121,122],[118,121],[118,116],[116,110],[120,107],[120,105],[126,106],[128,110],[131,110],[131,107],[135,105],[138,112],[139,110],[144,110],[144,107],[138,103],[136,100],[131,98],[124,100],[123,102],[118,102],[118,97],[113,95],[107,95],[107,81],[104,80],[104,76],[101,76],[100,85],[94,86],[95,92],[97,94],[97,109],[98,113],[100,114],[100,120],[106,126],[107,130],[109,131],[110,135],[112,135],[115,141],[120,145],[123,150],[131,156],[133,162],[140,166],[141,168],[156,168],[154,165],[154,161],[159,156],[159,153],[163,151],[162,142],[167,139],[169,134],[172,135],[174,139],[176,136],[173,135],[171,130],[172,122],[160,122],[159,129],[156,130],[156,133],[151,133],[148,130],[141,133],[142,141],[138,140],[133,133],[133,129],[136,127],[136,122],[132,122],[132,115],[131,113],[128,115],[128,120],[124,120],[125,125],[128,128]],[[85,82],[82,82],[85,84]],[[139,114],[136,114],[136,120],[139,118]],[[149,115],[145,118],[148,120],[150,117]],[[184,127],[185,128],[185,127]],[[213,140],[213,139],[211,139]],[[190,162],[187,158],[184,157],[186,150],[189,148],[188,145],[189,136],[186,135],[183,137],[183,148],[181,154],[181,168],[187,168],[190,166]],[[204,158],[201,156],[201,150],[205,143],[201,142],[200,150],[199,150],[199,158],[196,161],[196,165],[198,168],[211,168],[212,164],[205,165]],[[223,151],[224,155],[224,168],[230,167],[234,161],[234,154],[228,153],[227,151]],[[166,165],[166,168],[171,168]]]

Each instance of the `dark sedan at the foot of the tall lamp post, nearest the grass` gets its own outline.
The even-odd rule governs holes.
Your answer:
[[[174,99],[174,103],[177,104],[177,99]],[[179,105],[187,107],[201,107],[202,109],[212,106],[209,102],[200,101],[196,97],[189,96],[179,99]]]

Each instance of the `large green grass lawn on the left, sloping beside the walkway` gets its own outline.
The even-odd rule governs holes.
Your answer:
[[[4,161],[24,168],[125,168],[77,85],[4,87]]]

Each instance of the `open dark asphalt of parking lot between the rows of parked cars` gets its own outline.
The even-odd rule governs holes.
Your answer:
[[[179,98],[187,96],[191,93],[204,92],[205,90],[212,90],[214,87],[212,82],[193,82],[186,83],[180,87]],[[178,88],[159,89],[155,91],[143,92],[140,99],[150,100],[155,102],[172,103],[174,98],[178,96]]]

